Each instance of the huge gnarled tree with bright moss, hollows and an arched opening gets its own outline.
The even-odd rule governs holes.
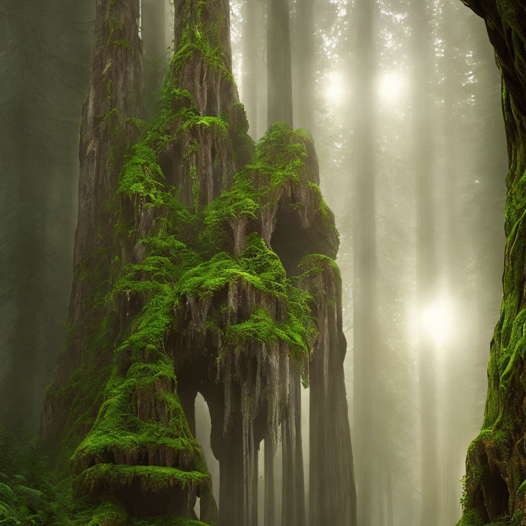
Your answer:
[[[127,27],[125,14],[108,18],[99,9],[97,27]],[[353,525],[340,277],[331,259],[338,232],[318,188],[312,139],[276,123],[255,147],[231,73],[228,3],[179,0],[174,9],[176,49],[160,114],[150,125],[134,124],[141,134],[130,141],[116,188],[99,203],[108,214],[103,261],[111,269],[93,307],[99,323],[86,328],[82,359],[66,353],[59,364],[68,376],[51,386],[42,438],[62,438],[57,462],[69,458],[93,524],[134,525],[137,517],[157,517],[145,521],[158,524],[164,515],[187,524],[200,497],[203,523],[256,526],[260,442],[268,442],[271,457],[281,436],[283,518],[301,526],[299,390],[311,376],[316,414],[336,422],[334,436],[320,444],[326,451],[312,453],[325,461],[315,524]],[[96,63],[108,43],[97,39]],[[136,78],[138,59],[128,62],[125,79]],[[108,70],[92,74],[97,93],[97,86],[114,86],[101,82],[101,71]],[[138,108],[119,103],[122,114]],[[120,137],[128,122],[105,139]],[[110,151],[114,162],[123,158],[117,147]],[[198,392],[210,409],[221,467],[219,512],[194,436]],[[73,399],[69,422],[57,419],[64,393]]]

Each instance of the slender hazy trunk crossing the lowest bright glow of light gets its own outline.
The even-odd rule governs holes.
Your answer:
[[[431,78],[433,77],[431,24],[427,2],[412,8],[414,49],[414,145],[416,199],[416,290],[417,312],[423,315],[436,301],[436,227],[434,218],[434,184],[432,142],[433,116]],[[429,329],[418,325],[419,386],[421,414],[421,525],[440,524],[440,483],[442,470],[438,465],[438,427],[436,405],[436,361],[434,342]]]

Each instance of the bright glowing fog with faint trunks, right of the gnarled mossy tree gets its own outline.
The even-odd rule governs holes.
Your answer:
[[[257,139],[266,8],[252,0],[247,16],[248,5],[232,5],[232,44]],[[508,159],[494,53],[458,1],[290,8],[293,125],[312,131],[340,231],[358,524],[453,525],[501,301]]]

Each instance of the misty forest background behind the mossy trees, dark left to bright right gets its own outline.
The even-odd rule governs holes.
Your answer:
[[[0,423],[25,436],[38,428],[67,330],[95,16],[95,5],[77,4],[0,8]],[[156,40],[143,36],[146,78],[160,84],[171,6],[142,9],[143,22],[157,14],[144,25]],[[336,213],[359,523],[422,514],[426,526],[454,524],[503,266],[507,159],[484,25],[449,0],[233,1],[231,24],[249,133],[258,139],[273,121],[266,81],[279,56],[290,82],[269,85],[292,97],[294,126],[311,130]],[[198,417],[206,444],[202,400]]]

